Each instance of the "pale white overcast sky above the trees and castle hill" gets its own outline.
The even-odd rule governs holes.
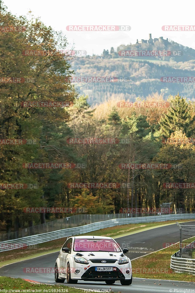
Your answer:
[[[19,16],[32,11],[34,16],[55,30],[62,30],[75,49],[87,54],[101,54],[103,49],[117,49],[121,44],[134,44],[136,40],[169,38],[195,49],[195,31],[165,32],[163,25],[195,25],[194,0],[187,1],[24,1],[5,0],[11,13]],[[120,32],[67,31],[67,25],[130,25],[131,30]]]

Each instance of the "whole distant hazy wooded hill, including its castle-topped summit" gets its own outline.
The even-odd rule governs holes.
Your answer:
[[[149,39],[150,40],[150,39]],[[195,76],[195,50],[173,41],[151,39],[138,41],[134,45],[120,45],[117,52],[104,50],[101,56],[78,57],[72,63],[75,76],[126,77],[127,82],[82,82],[75,83],[80,94],[89,96],[91,105],[102,103],[111,96],[134,101],[136,97],[146,98],[151,93],[163,93],[166,99],[178,92],[181,96],[195,100],[194,83],[161,82],[163,76]],[[182,51],[175,57],[120,57],[125,51]]]

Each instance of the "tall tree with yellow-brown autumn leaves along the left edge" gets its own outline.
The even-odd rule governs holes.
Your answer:
[[[25,222],[32,225],[33,221],[39,221],[37,215],[23,214],[23,208],[46,203],[43,195],[50,175],[48,170],[29,170],[23,168],[23,164],[47,162],[51,158],[59,160],[60,154],[65,153],[60,144],[60,133],[64,131],[63,125],[69,117],[62,107],[24,107],[24,102],[49,100],[71,103],[75,91],[65,79],[72,74],[70,56],[54,54],[59,48],[67,48],[67,40],[61,33],[46,27],[39,19],[17,18],[2,4],[0,17],[2,27],[23,28],[17,32],[0,32],[0,139],[33,139],[36,142],[0,144],[0,182],[38,186],[32,190],[0,190],[1,222],[10,231],[13,223],[16,223],[17,230]],[[47,54],[24,54],[34,50]],[[18,82],[13,82],[15,80]],[[58,136],[56,134],[55,140],[54,135],[46,136],[43,132],[58,132]],[[64,159],[68,159],[67,156]]]

